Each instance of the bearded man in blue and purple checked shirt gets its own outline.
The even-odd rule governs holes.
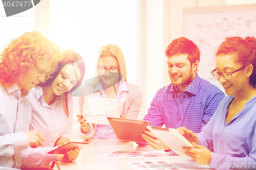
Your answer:
[[[198,76],[200,51],[193,41],[177,38],[168,45],[165,55],[172,83],[157,91],[144,120],[155,127],[185,127],[199,133],[225,95]],[[169,150],[150,131],[146,130],[142,137],[154,150]]]

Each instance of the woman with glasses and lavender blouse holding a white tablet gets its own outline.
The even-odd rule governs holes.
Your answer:
[[[227,96],[201,133],[179,129],[195,147],[184,147],[185,153],[196,163],[218,169],[255,169],[256,39],[228,37],[216,56],[211,73]]]

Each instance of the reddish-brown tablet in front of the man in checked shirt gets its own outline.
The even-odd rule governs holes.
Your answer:
[[[150,126],[147,121],[115,117],[108,117],[108,120],[118,139],[146,143],[141,133]]]

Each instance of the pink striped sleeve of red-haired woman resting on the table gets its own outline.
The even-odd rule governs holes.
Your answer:
[[[59,146],[58,146],[59,147]],[[48,154],[48,152],[57,149],[58,147],[38,147],[22,151],[22,165],[33,167],[44,165],[46,162],[58,160],[57,154]]]

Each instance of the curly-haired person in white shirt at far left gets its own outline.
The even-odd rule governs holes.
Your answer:
[[[22,150],[39,147],[44,135],[29,130],[28,91],[55,70],[60,48],[38,32],[12,40],[0,56],[0,169],[19,168]]]

